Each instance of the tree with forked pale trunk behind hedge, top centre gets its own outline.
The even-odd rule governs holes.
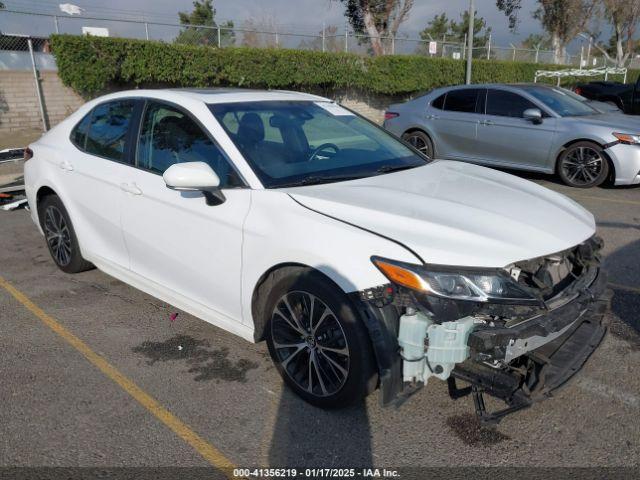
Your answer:
[[[389,53],[391,42],[409,15],[413,0],[339,0],[344,15],[359,35],[367,35],[374,55]]]

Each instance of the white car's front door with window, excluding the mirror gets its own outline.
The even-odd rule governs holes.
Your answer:
[[[192,161],[218,174],[224,203],[208,206],[200,192],[167,188],[162,173]],[[122,211],[131,270],[197,308],[214,310],[222,321],[241,321],[242,227],[251,190],[189,114],[155,101],[142,115],[136,166]]]

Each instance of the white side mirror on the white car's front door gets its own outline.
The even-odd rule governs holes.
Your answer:
[[[207,205],[220,205],[226,200],[220,191],[220,179],[204,162],[174,163],[162,174],[167,188],[181,192],[200,191]]]

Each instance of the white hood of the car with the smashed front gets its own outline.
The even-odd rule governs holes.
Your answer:
[[[595,232],[593,215],[564,195],[461,162],[285,191],[307,208],[402,243],[426,263],[504,267]]]

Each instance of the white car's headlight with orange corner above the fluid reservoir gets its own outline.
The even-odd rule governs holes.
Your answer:
[[[392,283],[453,300],[537,303],[538,299],[500,269],[423,266],[371,257]]]

